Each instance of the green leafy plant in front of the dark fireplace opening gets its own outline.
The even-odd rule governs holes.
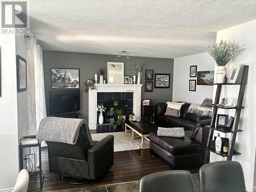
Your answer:
[[[125,108],[127,105],[124,105],[124,110],[118,109],[118,101],[114,101],[114,108],[110,108],[109,115],[112,116],[108,119],[108,122],[116,129],[117,126],[121,125],[125,120]]]

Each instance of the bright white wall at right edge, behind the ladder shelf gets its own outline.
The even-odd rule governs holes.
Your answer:
[[[234,156],[232,160],[242,164],[244,176],[247,186],[247,191],[252,191],[253,186],[256,191],[256,183],[253,183],[255,174],[255,144],[256,144],[256,20],[247,22],[238,26],[234,26],[217,32],[217,42],[221,39],[230,42],[236,42],[246,50],[234,58],[227,66],[228,73],[232,65],[244,63],[249,66],[248,82],[245,90],[244,106],[245,109],[241,114],[239,128],[243,132],[238,133],[235,149],[242,153],[240,156]],[[217,68],[215,69],[217,70]],[[222,98],[237,98],[239,86],[228,86],[223,88]],[[234,111],[229,110],[229,116],[234,114]],[[226,112],[227,113],[227,112]]]

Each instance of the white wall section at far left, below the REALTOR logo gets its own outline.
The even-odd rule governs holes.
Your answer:
[[[0,191],[13,188],[18,175],[18,130],[15,36],[0,34]]]

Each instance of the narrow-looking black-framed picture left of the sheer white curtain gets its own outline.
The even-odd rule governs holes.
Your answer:
[[[17,92],[27,91],[27,61],[16,55]]]

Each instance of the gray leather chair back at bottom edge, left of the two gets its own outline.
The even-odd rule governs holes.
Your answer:
[[[140,192],[194,192],[193,180],[187,170],[166,170],[142,177]]]

